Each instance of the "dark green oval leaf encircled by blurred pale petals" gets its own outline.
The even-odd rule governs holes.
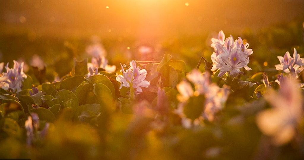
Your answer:
[[[202,114],[204,109],[205,95],[198,97],[190,97],[187,104],[184,106],[184,114],[187,118],[194,121]]]

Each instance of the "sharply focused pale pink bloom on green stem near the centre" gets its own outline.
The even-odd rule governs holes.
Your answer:
[[[121,65],[121,64],[120,64]],[[136,66],[136,62],[132,60],[130,62],[129,69],[124,69],[126,65],[121,65],[121,72],[123,75],[118,75],[116,73],[116,81],[120,82],[120,88],[123,86],[130,88],[130,95],[131,98],[134,98],[134,89],[136,93],[143,92],[141,87],[149,87],[150,82],[145,80],[147,76],[147,70],[146,69],[140,69],[138,66]]]

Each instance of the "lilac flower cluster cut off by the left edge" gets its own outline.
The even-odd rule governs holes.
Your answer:
[[[5,66],[6,72],[2,73],[0,77],[0,85],[3,89],[11,91],[14,94],[22,90],[22,82],[24,78],[27,78],[23,72],[23,65],[23,62],[19,64],[17,61],[14,61],[14,68],[9,68],[9,63],[7,63]]]

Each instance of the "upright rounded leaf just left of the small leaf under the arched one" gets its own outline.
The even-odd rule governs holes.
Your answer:
[[[78,98],[79,105],[95,103],[93,87],[88,83],[81,83],[76,88],[75,95]]]

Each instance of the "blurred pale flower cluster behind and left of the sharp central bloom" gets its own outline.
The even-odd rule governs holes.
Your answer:
[[[100,45],[98,43],[96,43],[94,45],[90,45],[86,48],[86,52],[89,55],[92,55],[91,63],[88,63],[88,70],[89,70],[89,68],[91,68],[92,70],[95,70],[95,68],[102,68],[106,72],[109,72],[109,73],[115,72],[116,66],[108,65],[109,62],[108,62],[107,58],[105,58],[106,51],[102,45]]]

